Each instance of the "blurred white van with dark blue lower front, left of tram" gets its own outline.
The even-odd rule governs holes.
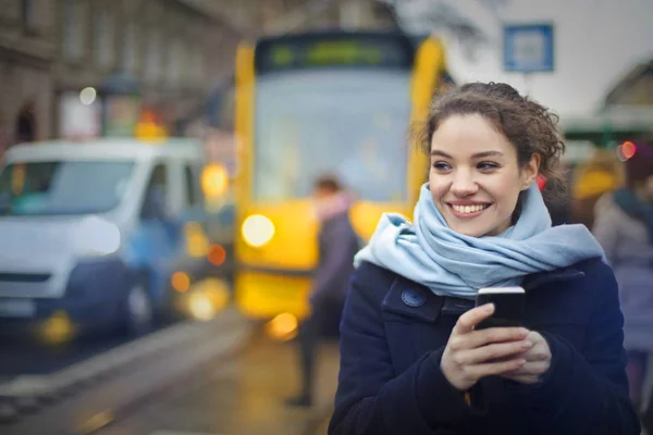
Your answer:
[[[64,312],[139,333],[169,302],[178,217],[200,208],[199,140],[47,141],[0,173],[0,324]]]

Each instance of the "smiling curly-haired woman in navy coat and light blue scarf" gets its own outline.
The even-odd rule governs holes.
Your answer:
[[[556,121],[506,84],[433,103],[414,223],[384,214],[355,257],[330,434],[639,435],[614,274],[534,183],[562,176]],[[477,330],[502,286],[526,289],[523,326]]]

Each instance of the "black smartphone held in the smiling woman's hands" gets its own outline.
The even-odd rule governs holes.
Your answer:
[[[488,327],[521,326],[526,309],[526,290],[522,287],[488,287],[477,293],[476,306],[494,303],[494,314],[476,326]]]

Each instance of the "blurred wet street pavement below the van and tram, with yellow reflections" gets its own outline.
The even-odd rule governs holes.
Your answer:
[[[13,418],[0,423],[2,434],[325,433],[337,384],[331,341],[320,353],[317,403],[285,408],[298,383],[296,344],[267,338],[231,308],[130,343],[79,341],[59,359],[35,346],[7,348],[3,373],[12,376],[0,384],[0,403]]]

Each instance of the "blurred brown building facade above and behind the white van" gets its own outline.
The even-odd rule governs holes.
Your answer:
[[[231,73],[241,38],[182,0],[0,0],[0,149],[61,136],[72,97],[116,75],[174,125]]]

